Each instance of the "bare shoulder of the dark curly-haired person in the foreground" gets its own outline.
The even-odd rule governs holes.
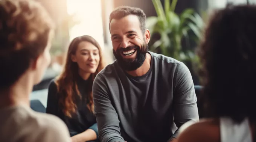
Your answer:
[[[219,121],[201,119],[182,131],[178,142],[220,142]]]

